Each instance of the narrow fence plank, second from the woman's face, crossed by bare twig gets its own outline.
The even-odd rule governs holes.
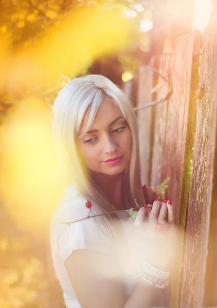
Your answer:
[[[161,76],[158,76],[159,88],[156,90],[156,100],[161,100],[168,94],[170,90],[170,62],[171,54],[166,53],[157,56],[157,70],[168,80],[165,81]],[[152,167],[151,167],[151,187],[156,187],[162,183],[162,169],[164,144],[166,137],[168,100],[155,106],[155,123],[154,123],[154,140],[152,151]]]

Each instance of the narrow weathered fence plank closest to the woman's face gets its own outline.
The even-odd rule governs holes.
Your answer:
[[[138,81],[139,88],[137,107],[140,107],[152,101],[151,90],[153,87],[153,69],[149,65],[142,66],[139,69]],[[142,185],[150,185],[153,144],[153,115],[153,107],[137,112]]]

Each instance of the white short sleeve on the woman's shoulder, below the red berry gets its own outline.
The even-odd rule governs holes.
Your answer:
[[[70,201],[57,214],[58,221],[53,226],[52,242],[56,253],[63,262],[76,249],[92,249],[97,252],[111,253],[112,239],[100,220],[89,218],[75,223],[64,223],[87,217],[89,210],[84,200]]]

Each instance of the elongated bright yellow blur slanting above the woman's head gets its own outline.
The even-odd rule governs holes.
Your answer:
[[[61,73],[73,78],[96,57],[124,48],[130,21],[109,10],[99,15],[97,9],[67,13],[30,48],[23,48],[18,55],[7,54],[7,66],[0,61],[0,66],[7,68],[0,72],[0,90],[7,85],[10,93],[22,92],[23,87],[46,91],[56,85]],[[22,23],[18,26],[23,27]]]

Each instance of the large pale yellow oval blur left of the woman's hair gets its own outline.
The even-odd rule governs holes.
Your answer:
[[[1,133],[1,198],[16,222],[44,232],[65,183],[45,104],[19,103]]]

